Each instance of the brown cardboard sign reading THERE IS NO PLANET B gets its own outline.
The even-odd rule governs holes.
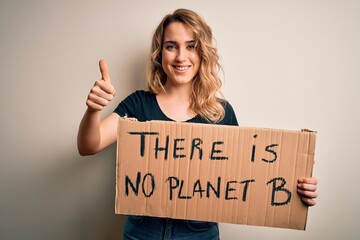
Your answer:
[[[119,120],[115,212],[304,230],[316,133]]]

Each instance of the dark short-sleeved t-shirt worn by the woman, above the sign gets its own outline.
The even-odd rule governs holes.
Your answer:
[[[220,125],[238,125],[235,113],[230,103],[224,100],[225,116],[218,122]],[[148,91],[139,90],[126,97],[114,110],[119,116],[136,118],[140,122],[150,120],[174,121],[168,118],[160,109],[156,95]],[[210,123],[207,119],[195,116],[187,120],[191,123]]]

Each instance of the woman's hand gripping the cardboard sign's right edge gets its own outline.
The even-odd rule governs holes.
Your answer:
[[[298,194],[301,197],[301,200],[308,206],[314,206],[316,204],[315,199],[318,194],[317,190],[317,179],[316,178],[300,178],[298,180]]]

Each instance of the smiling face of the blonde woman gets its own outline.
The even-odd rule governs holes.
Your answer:
[[[200,68],[195,34],[183,23],[170,23],[164,32],[162,68],[167,75],[165,85],[191,85]]]

